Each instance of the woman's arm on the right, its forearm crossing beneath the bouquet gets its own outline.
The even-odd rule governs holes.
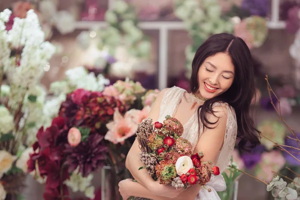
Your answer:
[[[213,108],[213,110],[216,111],[215,112],[216,116],[214,116],[213,114],[209,114],[207,116],[207,119],[211,122],[214,122],[216,120],[218,121],[216,124],[211,125],[211,127],[213,128],[204,129],[194,150],[194,152],[199,152],[199,151],[203,152],[204,157],[202,158],[202,161],[214,160],[224,140],[224,134],[225,134],[226,122],[227,122],[227,109],[224,106],[216,106]],[[154,182],[154,184],[159,184],[159,183]],[[128,184],[119,184],[119,186],[120,186],[120,192],[126,190],[126,192],[128,192],[127,193],[128,195],[157,199],[157,200],[194,199],[201,188],[200,185],[196,184],[188,187],[186,190],[182,191],[175,198],[167,198],[163,196],[154,195],[152,191],[149,191],[146,187],[144,187],[143,185],[137,182],[128,181]],[[168,192],[169,189],[167,187],[170,186],[169,185],[164,185],[164,186],[165,186],[165,192]]]

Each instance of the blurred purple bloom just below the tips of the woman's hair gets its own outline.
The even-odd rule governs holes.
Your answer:
[[[241,159],[243,160],[246,168],[252,169],[261,159],[261,152],[265,150],[263,145],[258,145],[252,149],[251,152],[243,152]]]

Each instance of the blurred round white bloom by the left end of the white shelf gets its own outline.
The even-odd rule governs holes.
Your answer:
[[[57,12],[55,16],[55,24],[61,34],[70,33],[75,29],[74,17],[65,10]]]

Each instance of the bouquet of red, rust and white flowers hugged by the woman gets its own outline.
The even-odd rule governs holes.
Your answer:
[[[146,168],[160,184],[171,183],[176,188],[196,183],[204,185],[211,174],[219,174],[219,169],[217,166],[209,168],[207,163],[211,161],[202,162],[202,152],[192,154],[192,144],[180,137],[182,133],[182,124],[169,115],[163,123],[155,122],[154,127],[152,119],[144,119],[136,130],[140,160],[144,163],[140,169]]]

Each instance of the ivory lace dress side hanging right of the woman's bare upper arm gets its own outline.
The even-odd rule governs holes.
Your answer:
[[[222,172],[228,165],[232,151],[235,145],[236,133],[237,133],[237,124],[236,116],[234,109],[226,103],[221,103],[221,105],[227,108],[227,122],[226,130],[224,135],[224,143],[215,160],[215,165],[219,167]]]

